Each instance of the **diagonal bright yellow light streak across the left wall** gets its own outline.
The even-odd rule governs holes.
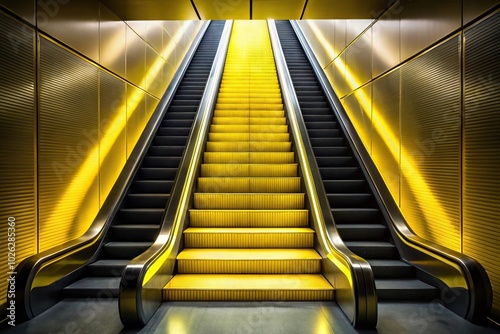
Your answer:
[[[184,25],[176,32],[176,38],[180,38],[186,29],[191,25],[191,22],[187,21]],[[175,41],[176,38],[173,38],[168,45],[162,50],[162,55],[165,57],[170,56],[170,54],[175,50]],[[122,50],[123,51],[123,50]],[[164,60],[161,57],[157,57],[151,67],[146,71],[143,79],[140,83],[140,87],[144,87],[147,91],[151,84],[154,82],[154,78],[156,78],[163,68]],[[134,115],[134,112],[137,110],[137,106],[143,100],[145,92],[141,89],[136,89],[133,94],[128,96],[128,103],[125,101],[118,109],[118,117],[113,119],[108,125],[108,131],[102,134],[100,144],[96,144],[90,153],[88,154],[85,161],[80,165],[74,177],[71,179],[70,183],[66,187],[66,190],[61,194],[61,197],[57,201],[53,210],[51,211],[49,217],[47,218],[48,222],[58,222],[58,217],[67,218],[67,222],[71,223],[74,221],[74,218],[77,215],[81,215],[82,213],[79,211],[79,206],[73,206],[71,202],[68,202],[68,198],[78,198],[79,203],[81,204],[85,197],[87,196],[90,188],[93,183],[98,178],[98,173],[89,177],[89,171],[95,170],[95,163],[98,161],[99,155],[101,156],[101,160],[104,160],[106,156],[110,153],[113,144],[117,140],[120,133],[126,127],[128,120]],[[128,104],[128,106],[127,106]],[[126,114],[126,121],[123,123],[123,115]],[[118,177],[120,170],[117,171],[116,175]],[[103,202],[103,200],[102,200]],[[97,214],[97,212],[95,212]],[[95,216],[94,216],[95,217]],[[90,224],[91,222],[89,222]],[[63,228],[64,226],[60,226]],[[81,226],[77,233],[83,233],[86,231],[88,226]],[[67,231],[70,231],[70,226],[67,226]],[[69,236],[72,237],[72,236]]]

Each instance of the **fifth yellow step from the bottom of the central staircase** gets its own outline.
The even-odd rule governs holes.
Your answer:
[[[195,193],[196,209],[276,209],[304,208],[304,194]]]

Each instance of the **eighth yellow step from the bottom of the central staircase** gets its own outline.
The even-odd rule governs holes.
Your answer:
[[[205,152],[208,164],[291,164],[295,162],[293,152]]]

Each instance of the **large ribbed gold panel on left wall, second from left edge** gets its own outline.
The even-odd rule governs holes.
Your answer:
[[[98,70],[40,39],[40,251],[83,234],[99,209]]]

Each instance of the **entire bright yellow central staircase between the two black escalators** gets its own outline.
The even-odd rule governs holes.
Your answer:
[[[332,300],[265,21],[235,21],[214,117],[165,300]]]

